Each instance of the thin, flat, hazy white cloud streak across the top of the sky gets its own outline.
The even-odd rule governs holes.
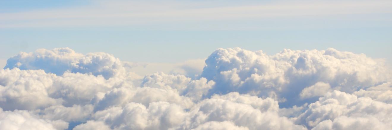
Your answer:
[[[246,5],[221,2],[94,1],[82,7],[1,13],[0,20],[3,22],[0,27],[124,26],[176,21],[260,20],[282,16],[339,16],[390,13],[391,6],[388,0],[345,0],[339,3],[324,0],[277,1],[250,2]]]

